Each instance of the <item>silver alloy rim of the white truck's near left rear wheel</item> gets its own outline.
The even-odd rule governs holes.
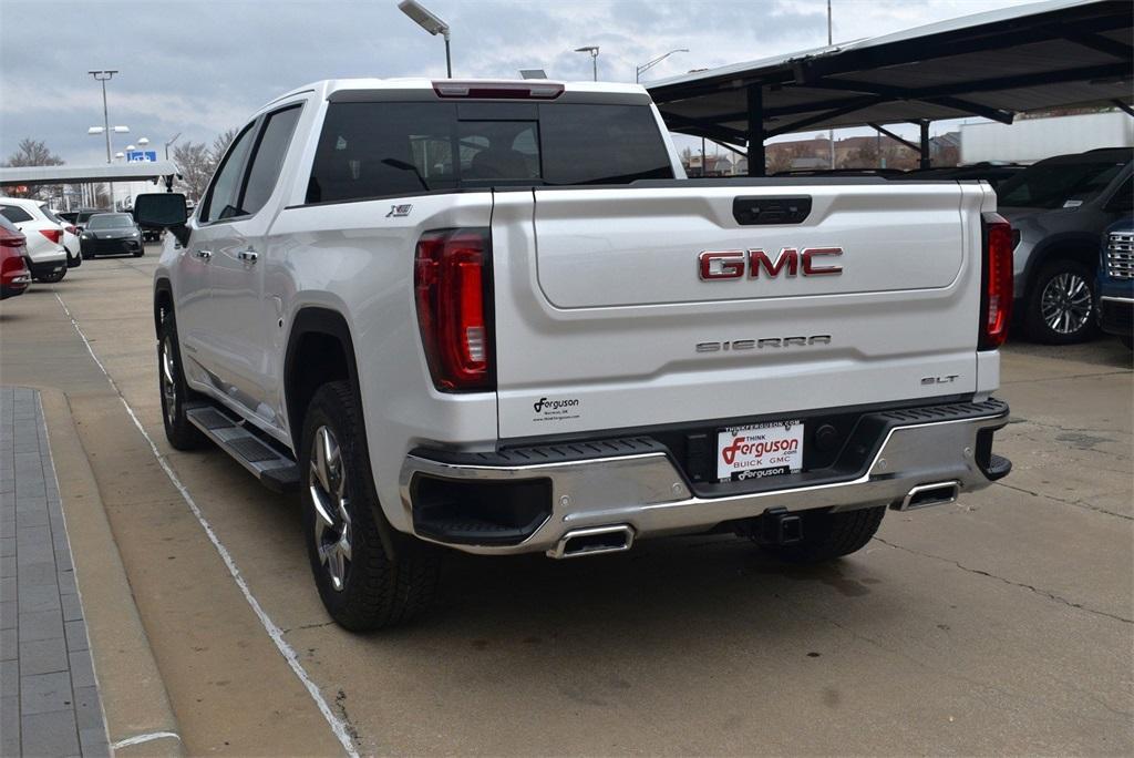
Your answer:
[[[350,571],[350,509],[346,495],[346,468],[338,440],[328,427],[315,430],[311,446],[307,489],[315,509],[315,546],[319,562],[341,592]]]

